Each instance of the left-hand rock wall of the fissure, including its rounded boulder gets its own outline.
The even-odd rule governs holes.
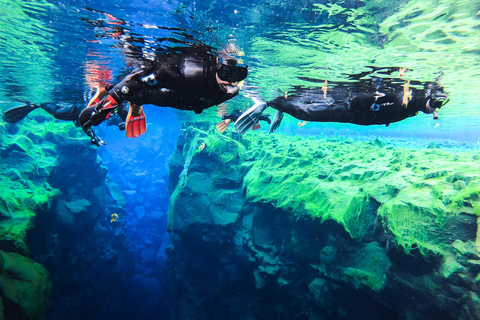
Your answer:
[[[0,319],[115,318],[133,258],[97,148],[43,117],[0,131]]]

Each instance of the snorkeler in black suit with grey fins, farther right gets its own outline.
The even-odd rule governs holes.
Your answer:
[[[439,84],[422,84],[422,89],[410,87],[420,82],[372,78],[356,83],[335,83],[329,88],[302,89],[272,101],[264,102],[256,96],[251,98],[255,105],[247,110],[235,123],[239,133],[245,133],[267,107],[277,109],[270,127],[275,131],[283,113],[304,121],[340,122],[359,125],[385,124],[404,120],[422,111],[438,118],[437,109],[448,102],[448,96]]]

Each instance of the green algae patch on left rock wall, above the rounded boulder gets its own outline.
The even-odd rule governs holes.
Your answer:
[[[50,141],[76,137],[75,131],[72,124],[54,120],[27,118],[18,126],[0,122],[0,241],[12,242],[19,252],[28,252],[24,238],[35,210],[59,193],[47,182],[57,162]]]

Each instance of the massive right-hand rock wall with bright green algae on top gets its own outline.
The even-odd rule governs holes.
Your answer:
[[[169,318],[480,318],[479,155],[406,145],[184,127]]]

